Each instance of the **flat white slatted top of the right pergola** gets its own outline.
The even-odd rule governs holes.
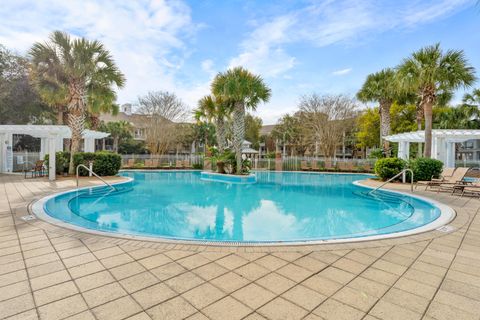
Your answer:
[[[434,129],[432,138],[443,138],[451,142],[462,142],[471,139],[480,139],[480,130],[464,129]],[[425,131],[412,131],[393,134],[385,137],[390,142],[424,142]]]

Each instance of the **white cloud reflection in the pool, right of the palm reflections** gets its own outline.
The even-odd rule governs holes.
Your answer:
[[[302,238],[307,219],[297,221],[290,213],[282,212],[274,202],[260,201],[260,207],[243,217],[244,240]]]

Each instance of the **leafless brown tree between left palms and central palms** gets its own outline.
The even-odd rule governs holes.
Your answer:
[[[188,107],[168,91],[154,91],[138,99],[139,113],[147,116],[146,144],[153,154],[165,154],[176,142],[177,123],[187,119]]]

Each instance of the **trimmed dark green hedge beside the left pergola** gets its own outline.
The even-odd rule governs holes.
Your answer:
[[[93,171],[99,176],[114,176],[122,166],[122,157],[111,152],[79,152],[73,156],[75,167],[84,164],[88,167],[88,163],[93,161]],[[80,168],[81,176],[87,176],[88,171]]]

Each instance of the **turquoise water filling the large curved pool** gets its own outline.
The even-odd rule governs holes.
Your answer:
[[[200,180],[198,171],[125,171],[132,182],[55,196],[51,217],[93,230],[163,238],[271,242],[366,237],[440,216],[432,204],[356,186],[362,174],[258,172],[253,185]]]

